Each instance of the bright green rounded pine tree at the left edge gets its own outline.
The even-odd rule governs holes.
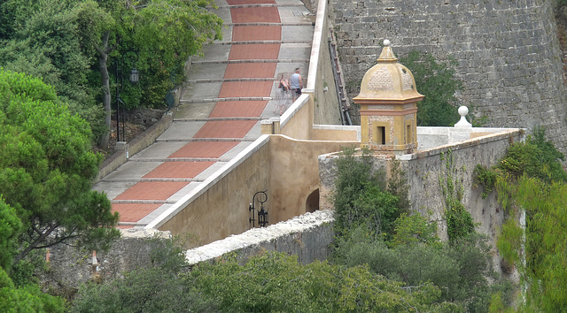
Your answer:
[[[102,159],[89,149],[88,124],[53,88],[0,70],[0,194],[23,225],[16,262],[70,238],[105,248],[119,235],[110,201],[90,190]]]

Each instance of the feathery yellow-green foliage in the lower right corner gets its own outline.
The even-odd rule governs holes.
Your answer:
[[[525,228],[512,218],[498,240],[501,255],[521,274],[527,310],[561,312],[567,309],[567,184],[546,183],[523,176],[515,200],[525,210]]]

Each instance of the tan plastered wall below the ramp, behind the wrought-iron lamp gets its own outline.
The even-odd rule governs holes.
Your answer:
[[[198,247],[250,229],[248,204],[268,189],[269,224],[306,212],[307,196],[319,188],[321,154],[357,147],[357,141],[300,141],[272,135],[260,149],[227,172],[159,227],[173,235],[190,234]],[[256,203],[259,207],[259,203]]]

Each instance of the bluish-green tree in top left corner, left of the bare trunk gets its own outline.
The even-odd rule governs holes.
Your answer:
[[[96,104],[99,88],[89,84],[92,57],[82,49],[79,11],[72,4],[68,0],[0,4],[13,19],[12,35],[0,39],[0,66],[42,78],[99,135],[105,130],[104,112]]]

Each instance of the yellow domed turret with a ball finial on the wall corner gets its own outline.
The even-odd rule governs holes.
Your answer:
[[[353,102],[361,105],[361,147],[393,153],[411,153],[417,147],[414,75],[398,62],[384,40],[384,49],[361,82]]]

